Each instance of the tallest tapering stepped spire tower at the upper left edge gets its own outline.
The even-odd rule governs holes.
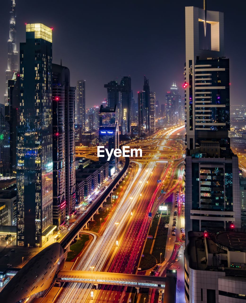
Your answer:
[[[8,105],[8,80],[11,80],[13,73],[18,71],[18,52],[16,48],[16,15],[15,0],[11,0],[9,12],[9,39],[8,39],[8,69],[6,70],[6,92],[4,95],[5,105]]]

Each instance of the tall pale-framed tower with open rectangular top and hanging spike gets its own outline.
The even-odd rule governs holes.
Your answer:
[[[241,227],[238,157],[230,149],[223,13],[185,8],[185,233]],[[210,50],[199,23],[209,20]],[[186,243],[188,238],[186,238]]]

